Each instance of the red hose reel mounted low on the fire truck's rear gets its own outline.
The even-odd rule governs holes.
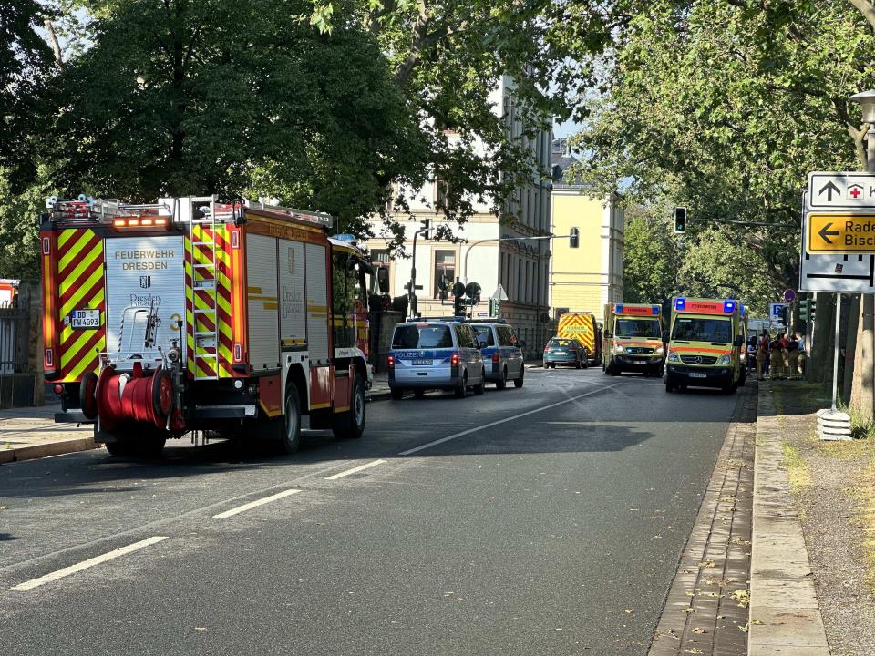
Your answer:
[[[173,410],[173,378],[161,366],[147,376],[139,362],[134,363],[130,374],[119,374],[106,367],[98,377],[94,398],[97,407],[83,405],[83,412],[88,415],[96,410],[95,415],[99,415],[100,424],[106,428],[148,423],[164,429]]]

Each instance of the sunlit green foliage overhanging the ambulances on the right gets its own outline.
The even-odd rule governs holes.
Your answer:
[[[870,26],[826,0],[630,8],[576,138],[591,155],[584,178],[630,203],[689,208],[687,284],[795,286],[806,174],[858,166],[845,98],[872,86]],[[772,225],[706,229],[713,220]]]

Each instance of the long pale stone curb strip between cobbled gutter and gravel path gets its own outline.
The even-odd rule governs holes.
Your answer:
[[[829,656],[781,438],[771,384],[760,383],[747,653]]]

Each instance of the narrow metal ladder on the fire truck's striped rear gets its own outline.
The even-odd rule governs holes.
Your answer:
[[[191,308],[194,314],[194,377],[219,378],[219,300],[216,266],[216,216],[214,199],[190,200],[189,244],[191,256]]]

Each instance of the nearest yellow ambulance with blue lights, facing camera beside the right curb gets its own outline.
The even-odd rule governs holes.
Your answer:
[[[733,394],[742,380],[742,304],[735,299],[672,300],[665,391],[717,387]]]

